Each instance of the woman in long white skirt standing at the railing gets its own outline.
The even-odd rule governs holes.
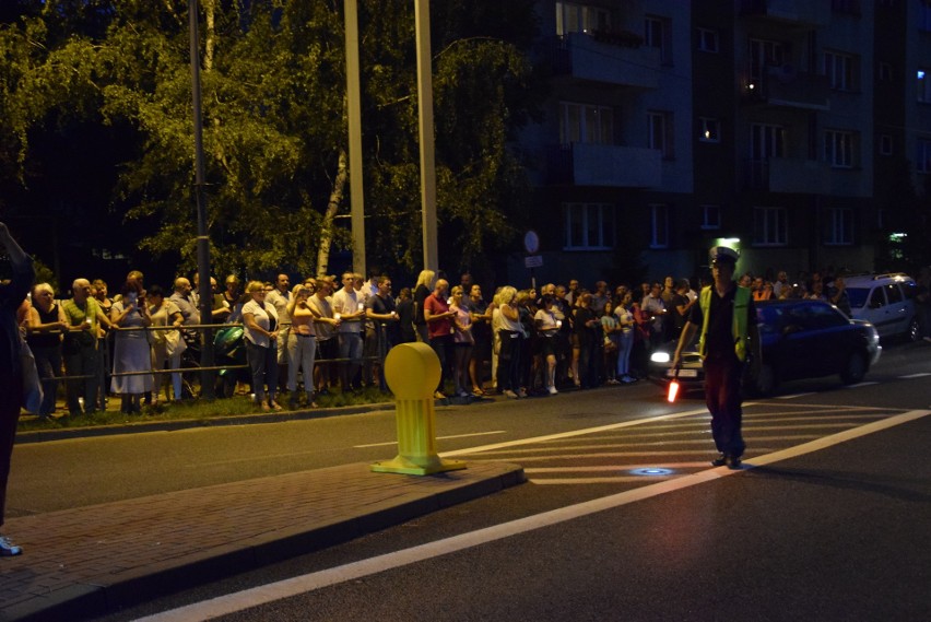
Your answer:
[[[120,412],[130,414],[141,412],[142,394],[152,390],[152,353],[149,345],[149,331],[152,318],[145,306],[142,285],[127,281],[122,286],[122,297],[110,307],[110,321],[118,328],[114,344],[114,376],[110,390],[121,396]],[[150,372],[149,374],[118,374]]]

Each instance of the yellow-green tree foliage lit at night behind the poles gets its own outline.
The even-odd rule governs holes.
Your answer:
[[[445,262],[509,242],[527,183],[509,149],[535,114],[527,58],[533,3],[432,7],[437,214]],[[484,7],[484,4],[488,4]],[[346,152],[342,0],[201,0],[207,197],[217,272],[310,273]],[[127,154],[110,189],[119,219],[145,223],[148,251],[195,261],[193,122],[187,2],[17,0],[0,14],[0,176],[28,186],[31,137],[109,127]],[[367,250],[420,266],[413,1],[360,1]],[[350,172],[350,175],[355,172]],[[3,179],[4,177],[0,177]],[[347,190],[346,190],[347,192]],[[351,197],[350,197],[351,200]],[[329,213],[332,215],[332,212]],[[443,251],[444,254],[446,250]]]

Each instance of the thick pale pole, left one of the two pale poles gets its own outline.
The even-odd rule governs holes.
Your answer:
[[[352,215],[352,266],[365,274],[365,199],[362,184],[362,99],[358,85],[358,9],[356,0],[344,0],[346,28],[346,114],[349,115],[350,213]]]

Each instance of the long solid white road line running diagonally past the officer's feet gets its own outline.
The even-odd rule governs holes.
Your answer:
[[[803,456],[812,451],[818,451],[846,441],[851,441],[860,436],[865,436],[896,425],[901,425],[909,421],[921,419],[929,414],[931,414],[931,410],[912,410],[882,421],[868,423],[855,430],[848,430],[830,436],[825,436],[824,438],[812,441],[811,443],[805,443],[797,447],[758,456],[754,458],[752,462],[744,462],[744,468],[753,469],[755,467],[762,467],[780,460]],[[706,469],[691,476],[657,482],[655,484],[627,490],[617,494],[603,496],[576,505],[559,507],[542,514],[535,514],[533,516],[511,520],[510,523],[494,525],[492,527],[470,531],[468,533],[461,533],[459,536],[452,536],[435,542],[427,542],[426,544],[412,547],[402,551],[386,553],[384,555],[360,560],[334,568],[328,568],[275,582],[269,585],[254,587],[251,589],[221,596],[203,602],[196,602],[179,609],[156,613],[141,620],[144,622],[193,622],[198,620],[210,620],[257,607],[259,605],[306,594],[322,587],[360,579],[362,577],[392,568],[399,568],[417,562],[423,562],[425,560],[455,553],[457,551],[480,547],[511,536],[526,533],[544,527],[551,527],[553,525],[558,525],[559,523],[574,520],[605,509],[613,509],[615,507],[621,507],[623,505],[661,494],[680,491],[740,472],[741,471],[729,471],[726,467]]]

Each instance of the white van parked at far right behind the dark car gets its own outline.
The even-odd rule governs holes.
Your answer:
[[[845,278],[850,310],[856,319],[876,327],[880,337],[921,338],[921,318],[915,279],[901,272]]]

